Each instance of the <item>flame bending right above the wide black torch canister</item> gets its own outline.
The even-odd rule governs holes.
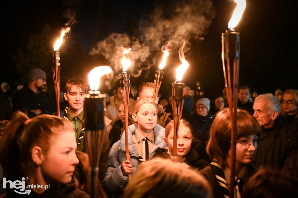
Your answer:
[[[90,90],[98,90],[100,77],[111,71],[112,69],[109,66],[99,66],[92,69],[88,74]]]

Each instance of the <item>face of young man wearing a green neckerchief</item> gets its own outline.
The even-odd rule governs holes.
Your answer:
[[[64,93],[64,98],[72,110],[83,110],[85,96],[86,93],[79,87],[72,87],[70,91]]]

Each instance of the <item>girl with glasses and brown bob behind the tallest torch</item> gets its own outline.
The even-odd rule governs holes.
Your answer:
[[[252,156],[257,147],[257,135],[261,128],[259,123],[247,111],[237,110],[237,144],[235,164],[234,197],[239,198],[244,184],[250,177]],[[229,109],[225,108],[215,117],[210,130],[207,153],[212,163],[200,173],[209,181],[214,197],[229,197],[231,167],[231,118]]]

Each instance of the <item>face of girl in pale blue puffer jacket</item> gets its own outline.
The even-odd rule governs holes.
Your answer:
[[[132,117],[140,130],[152,130],[157,121],[156,107],[152,103],[145,103],[140,107],[136,114],[133,114]]]

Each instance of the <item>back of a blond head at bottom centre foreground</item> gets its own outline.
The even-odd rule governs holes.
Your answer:
[[[142,163],[125,188],[125,198],[209,198],[210,186],[197,171],[170,159]]]

